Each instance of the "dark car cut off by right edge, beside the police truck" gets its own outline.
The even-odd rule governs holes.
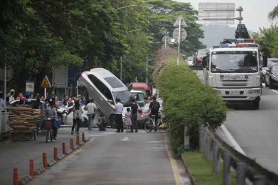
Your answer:
[[[265,86],[270,89],[278,86],[278,63],[272,63],[265,73]]]

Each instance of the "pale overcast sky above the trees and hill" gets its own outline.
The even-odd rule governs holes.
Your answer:
[[[245,24],[248,30],[258,32],[259,28],[269,28],[271,23],[276,24],[278,19],[274,19],[273,22],[268,21],[267,15],[274,7],[278,6],[277,0],[172,0],[182,3],[191,3],[194,10],[199,9],[199,3],[235,3],[235,8],[240,6],[242,11],[242,24]],[[235,11],[235,17],[239,17],[239,11]],[[239,20],[235,20],[235,25],[229,25],[230,27],[237,27]]]

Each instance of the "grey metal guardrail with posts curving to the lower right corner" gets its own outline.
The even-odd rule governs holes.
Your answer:
[[[237,171],[237,184],[245,184],[248,178],[255,185],[278,184],[278,175],[260,166],[255,160],[239,153],[221,140],[209,126],[199,127],[199,150],[207,161],[213,160],[213,171],[220,171],[219,155],[223,157],[223,184],[230,184],[230,166]]]

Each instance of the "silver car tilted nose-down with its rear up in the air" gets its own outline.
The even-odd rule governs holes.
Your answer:
[[[109,118],[109,124],[116,128],[114,107],[116,99],[120,99],[124,106],[122,112],[123,121],[126,109],[131,106],[131,95],[128,88],[114,74],[103,68],[94,68],[84,71],[77,83],[78,92],[84,104],[88,104],[90,99],[95,100],[97,107]],[[139,113],[137,112],[138,116]]]

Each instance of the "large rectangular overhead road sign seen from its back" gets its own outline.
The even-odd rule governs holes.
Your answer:
[[[235,24],[235,3],[199,3],[198,24]]]

